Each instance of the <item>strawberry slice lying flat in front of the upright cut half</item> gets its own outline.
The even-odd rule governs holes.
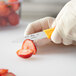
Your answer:
[[[17,51],[17,55],[22,58],[29,58],[33,54],[33,50],[30,49],[20,49]]]

